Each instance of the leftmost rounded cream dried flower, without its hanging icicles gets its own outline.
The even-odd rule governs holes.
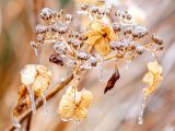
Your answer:
[[[44,66],[27,64],[21,71],[21,82],[33,90],[33,92],[40,96],[46,92],[51,81],[51,72]]]

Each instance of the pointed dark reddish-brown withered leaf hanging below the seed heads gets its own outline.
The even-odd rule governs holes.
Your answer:
[[[113,75],[110,76],[110,79],[108,80],[107,82],[107,85],[104,90],[104,94],[106,94],[106,92],[110,91],[115,83],[117,82],[117,80],[119,79],[119,72],[118,72],[118,69],[113,73]]]

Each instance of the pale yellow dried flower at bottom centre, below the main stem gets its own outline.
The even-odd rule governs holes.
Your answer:
[[[62,119],[82,120],[88,116],[92,99],[90,91],[78,92],[70,86],[60,100],[58,114]]]

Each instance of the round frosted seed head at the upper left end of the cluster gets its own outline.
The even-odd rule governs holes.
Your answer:
[[[43,20],[47,20],[48,21],[48,20],[52,19],[52,15],[54,15],[54,12],[48,8],[44,8],[42,10],[42,12],[40,12],[40,17]]]

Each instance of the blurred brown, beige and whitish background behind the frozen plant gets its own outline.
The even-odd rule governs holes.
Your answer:
[[[1,0],[0,1],[0,131],[11,122],[12,110],[18,102],[20,70],[35,62],[30,45],[34,40],[37,15],[44,7],[67,13],[74,12],[82,1],[91,0]],[[92,1],[93,2],[93,1]],[[137,124],[142,88],[141,79],[147,72],[147,63],[153,61],[149,52],[133,60],[126,69],[119,68],[120,80],[114,90],[103,94],[106,82],[114,72],[113,61],[105,64],[103,82],[97,80],[98,69],[85,72],[82,87],[92,91],[93,105],[89,117],[80,122],[80,131],[175,131],[175,0],[108,0],[116,9],[125,8],[145,25],[151,33],[164,39],[165,48],[159,53],[159,62],[164,69],[163,81],[151,97],[144,114],[144,123]],[[52,72],[52,85],[70,73],[65,67],[49,63],[51,45],[45,45],[40,63]],[[84,81],[85,80],[85,81]],[[32,117],[31,131],[73,131],[73,121],[63,122],[57,115],[59,100],[65,90],[49,99],[49,116],[43,107]]]

